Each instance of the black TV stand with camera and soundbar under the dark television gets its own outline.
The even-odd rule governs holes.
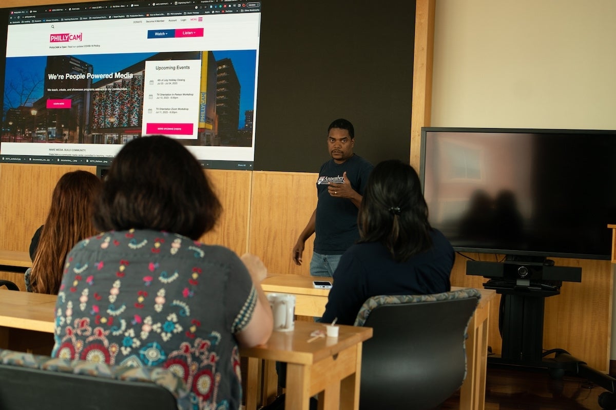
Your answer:
[[[500,264],[500,269],[493,264]],[[549,279],[544,278],[546,268]],[[556,270],[549,272],[551,269]],[[484,288],[493,289],[502,295],[499,328],[503,339],[501,355],[488,356],[488,365],[545,368],[554,378],[560,378],[565,373],[584,377],[608,390],[599,397],[602,408],[616,408],[616,379],[591,368],[585,361],[573,357],[565,350],[543,352],[545,298],[561,293],[562,280],[580,282],[582,269],[556,267],[545,261],[467,261],[467,275],[487,271],[493,276],[485,276],[490,280],[484,283]],[[512,272],[517,272],[517,277]],[[554,272],[560,275],[553,275]],[[547,358],[551,353],[555,353],[554,358]]]

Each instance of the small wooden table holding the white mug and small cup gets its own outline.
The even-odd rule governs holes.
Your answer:
[[[275,387],[275,361],[287,363],[285,408],[309,410],[310,396],[319,394],[322,409],[359,409],[362,343],[372,337],[372,328],[340,326],[338,337],[320,337],[309,342],[322,323],[296,321],[291,332],[274,332],[267,344],[240,349],[248,358],[246,409],[257,408],[261,390],[261,363],[265,360],[264,391]],[[269,383],[269,385],[267,384]]]

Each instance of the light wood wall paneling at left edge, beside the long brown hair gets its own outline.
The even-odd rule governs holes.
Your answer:
[[[51,194],[67,172],[87,165],[0,164],[0,248],[28,251],[34,231],[41,226],[51,205]]]

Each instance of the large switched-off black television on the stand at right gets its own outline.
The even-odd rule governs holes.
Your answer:
[[[610,259],[616,131],[421,130],[432,227],[456,251]]]

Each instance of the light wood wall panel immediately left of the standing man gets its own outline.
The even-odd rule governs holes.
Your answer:
[[[291,259],[300,232],[317,207],[317,173],[253,172],[249,250],[269,272],[309,275],[314,235],[306,241],[302,266]]]

